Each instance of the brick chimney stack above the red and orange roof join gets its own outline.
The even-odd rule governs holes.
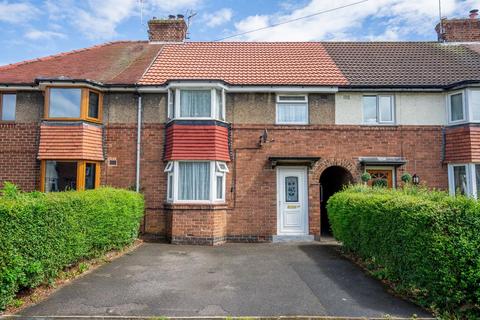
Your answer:
[[[169,15],[168,19],[153,17],[148,21],[150,42],[183,42],[187,36],[187,23],[181,14]]]

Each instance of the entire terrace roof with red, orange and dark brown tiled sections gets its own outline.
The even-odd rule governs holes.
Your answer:
[[[111,42],[0,67],[0,84],[105,85],[219,80],[231,85],[435,87],[480,82],[480,43]]]

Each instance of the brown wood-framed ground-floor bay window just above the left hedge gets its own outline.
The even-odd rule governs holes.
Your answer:
[[[100,185],[100,164],[76,160],[42,160],[41,185],[43,192],[89,190]]]

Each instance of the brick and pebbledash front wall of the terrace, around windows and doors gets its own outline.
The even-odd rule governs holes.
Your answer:
[[[308,174],[309,229],[315,236],[320,234],[319,181],[329,166],[342,166],[358,179],[362,170],[358,157],[401,156],[408,162],[397,170],[397,176],[404,171],[415,172],[430,187],[447,187],[440,124],[338,125],[336,97],[310,94],[310,125],[277,126],[274,125],[275,94],[236,93],[227,95],[226,105],[227,121],[232,123],[233,155],[228,163],[226,204],[167,204],[163,172],[166,95],[143,94],[142,100],[141,191],[146,199],[142,231],[148,236],[168,238],[173,243],[270,241],[276,234],[277,186],[276,170],[268,162],[269,156],[321,158]],[[102,185],[135,186],[136,108],[134,94],[105,94],[107,160],[102,165]],[[0,125],[0,179],[13,181],[24,190],[37,188],[39,182],[36,156],[42,110],[41,93],[19,93],[17,121]],[[269,142],[259,147],[264,129],[268,130]]]

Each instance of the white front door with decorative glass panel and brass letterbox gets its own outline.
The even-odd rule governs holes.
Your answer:
[[[308,234],[306,167],[277,167],[277,234]]]

